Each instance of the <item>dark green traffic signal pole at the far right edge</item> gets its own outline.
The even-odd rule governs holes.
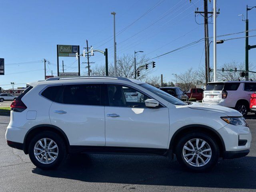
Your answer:
[[[249,20],[248,20],[248,11],[254,7],[249,7],[246,5],[246,20],[245,20],[245,79],[249,80],[249,50],[252,48],[256,48],[256,45],[250,46],[249,45]]]

